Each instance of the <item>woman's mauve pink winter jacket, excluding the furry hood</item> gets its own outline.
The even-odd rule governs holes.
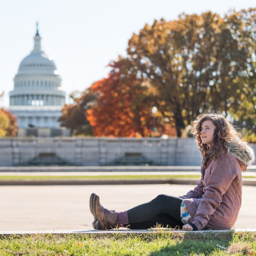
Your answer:
[[[201,168],[202,179],[194,190],[180,196],[198,230],[229,229],[236,222],[242,201],[242,172],[231,154],[220,154]]]

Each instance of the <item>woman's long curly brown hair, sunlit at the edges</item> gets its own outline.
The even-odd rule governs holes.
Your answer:
[[[200,137],[200,131],[202,123],[206,120],[212,122],[216,127],[213,133],[213,139],[211,144],[211,150],[206,144],[202,143]],[[220,113],[204,113],[196,118],[194,121],[194,128],[190,132],[196,138],[197,148],[200,150],[202,155],[202,166],[210,162],[214,158],[218,158],[221,153],[228,153],[228,143],[234,139],[241,139],[240,134],[236,131],[233,124],[231,124],[224,116]]]

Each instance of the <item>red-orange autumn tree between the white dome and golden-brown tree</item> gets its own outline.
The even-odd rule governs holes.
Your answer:
[[[90,87],[97,95],[97,100],[87,110],[87,120],[93,126],[93,134],[113,137],[152,136],[151,109],[156,103],[154,92],[147,86],[141,86],[143,80],[131,72],[134,67],[128,59],[119,57],[110,66],[112,70],[108,78]],[[160,121],[161,113],[156,114],[156,120],[157,132],[154,135],[175,135],[175,129],[171,129],[169,123]]]

